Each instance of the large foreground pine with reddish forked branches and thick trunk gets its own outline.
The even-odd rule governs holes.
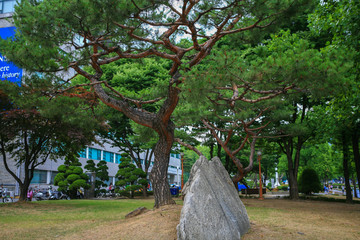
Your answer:
[[[222,37],[271,26],[307,2],[20,1],[13,15],[17,35],[14,41],[2,41],[0,51],[30,71],[74,70],[88,80],[106,105],[153,129],[158,142],[150,178],[155,207],[159,207],[174,203],[166,178],[174,141],[171,116],[179,101],[181,70],[188,71],[201,62]],[[178,36],[191,38],[192,45],[181,47]],[[156,92],[157,97],[130,98],[104,80],[102,66],[144,57],[171,62],[168,79],[159,83],[162,91]],[[91,66],[91,70],[87,71],[84,65]],[[154,102],[160,103],[156,111],[142,108]]]

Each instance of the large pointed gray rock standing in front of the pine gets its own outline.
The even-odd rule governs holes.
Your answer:
[[[250,229],[245,206],[219,158],[200,157],[182,193],[178,240],[240,239]]]

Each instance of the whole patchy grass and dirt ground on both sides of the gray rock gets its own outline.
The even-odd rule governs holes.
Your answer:
[[[360,204],[242,199],[251,222],[243,239],[360,239]],[[181,204],[181,201],[178,201]],[[176,239],[181,205],[125,220],[153,200],[71,200],[0,204],[2,239]]]

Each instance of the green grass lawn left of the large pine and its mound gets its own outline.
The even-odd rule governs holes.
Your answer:
[[[58,200],[0,204],[0,239],[66,238],[123,220],[154,200]]]

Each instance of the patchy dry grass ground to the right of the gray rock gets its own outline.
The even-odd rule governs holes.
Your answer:
[[[252,239],[360,239],[360,205],[320,201],[243,199]]]

